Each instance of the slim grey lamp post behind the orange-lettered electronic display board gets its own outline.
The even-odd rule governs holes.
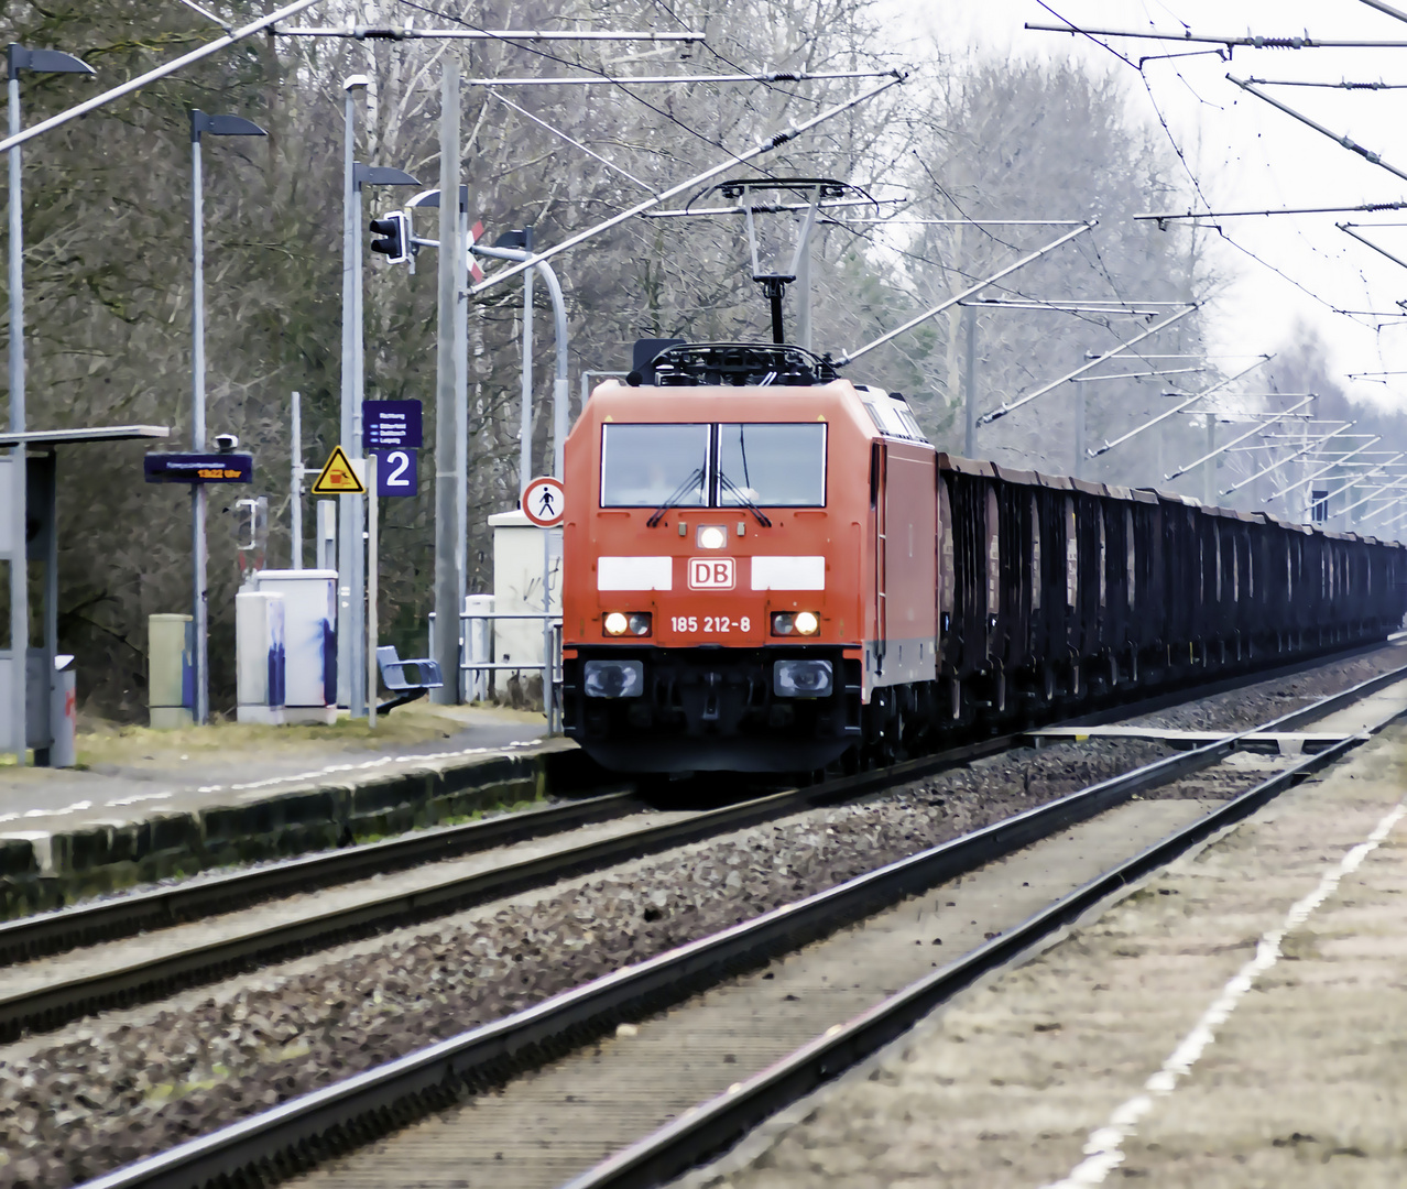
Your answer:
[[[191,449],[205,449],[205,190],[201,180],[200,138],[211,136],[267,136],[257,124],[239,115],[207,115],[198,107],[190,113],[190,222],[191,222]],[[191,525],[191,622],[196,636],[196,705],[197,725],[210,719],[210,592],[207,590],[205,549],[205,485],[190,485]]]

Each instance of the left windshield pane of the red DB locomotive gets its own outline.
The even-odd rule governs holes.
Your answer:
[[[606,425],[601,507],[702,508],[708,502],[712,425]]]

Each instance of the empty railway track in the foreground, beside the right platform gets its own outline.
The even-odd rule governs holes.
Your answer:
[[[416,1183],[426,1185],[436,1183],[435,1171],[440,1165],[440,1171],[450,1175],[450,1179],[443,1181],[446,1185],[463,1185],[466,1175],[471,1176],[467,1183],[477,1183],[476,1169],[497,1183],[515,1186],[559,1185],[571,1179],[573,1174],[577,1174],[571,1179],[573,1189],[664,1183],[709,1152],[730,1144],[760,1119],[898,1036],[955,991],[1040,944],[1054,930],[1127,886],[1130,881],[1334,763],[1386,726],[1400,713],[1400,708],[1393,706],[1390,712],[1382,712],[1380,708],[1373,711],[1369,702],[1365,711],[1370,715],[1369,720],[1354,727],[1338,726],[1321,732],[1321,736],[1332,739],[1321,737],[1320,742],[1325,746],[1314,754],[1256,757],[1251,768],[1242,770],[1244,782],[1249,787],[1210,813],[1192,813],[1186,809],[1189,802],[1180,802],[1185,806],[1180,815],[1189,820],[1178,820],[1171,833],[1165,829],[1171,812],[1166,806],[1179,802],[1164,802],[1164,809],[1148,819],[1151,825],[1128,832],[1120,844],[1121,851],[1119,846],[1113,847],[1119,853],[1119,861],[1107,865],[1107,853],[1099,850],[1099,839],[1088,832],[1107,829],[1100,823],[1151,803],[1133,803],[1133,798],[1228,763],[1231,757],[1244,757],[1245,749],[1255,746],[1256,740],[1294,732],[1307,722],[1352,708],[1376,691],[1404,680],[1407,670],[1394,670],[1251,730],[1228,733],[1133,772],[1100,781],[1081,792],[616,971],[526,1012],[286,1102],[265,1114],[120,1169],[91,1185],[135,1189],[198,1185],[241,1175],[287,1176],[300,1166],[363,1145],[373,1137],[387,1134],[407,1120],[436,1109],[450,1109],[456,1114],[449,1123],[431,1120],[416,1124],[360,1155],[335,1161],[329,1169],[311,1174],[311,1179],[326,1183],[384,1183],[387,1178],[397,1178],[397,1161],[404,1159],[409,1161],[408,1166],[415,1168]],[[1079,832],[1086,833],[1082,836]],[[1020,853],[1044,847],[1045,858],[1041,861],[1048,868],[1051,848],[1067,843],[1082,851],[1079,858],[1085,868],[1093,860],[1083,851],[1099,850],[1095,868],[1067,864],[1067,875],[1078,871],[1079,878],[1071,886],[1047,896],[1051,891],[1050,879],[1043,882],[1036,874],[1040,861],[1029,864],[1031,878],[1023,884],[1034,884],[1036,888],[1009,896],[1013,903],[1007,905],[1007,917],[1014,905],[1020,909],[1016,919],[996,922],[991,908],[981,909],[972,895],[964,901],[961,885],[958,891],[953,891],[951,881],[968,877],[965,884],[978,881],[976,899],[981,899],[981,879],[992,878],[988,872],[999,871],[1002,861],[1006,865],[1019,864]],[[1009,882],[1014,882],[1014,877]],[[892,933],[898,936],[905,953],[913,954],[913,943],[923,940],[915,936],[915,929],[927,933],[934,926],[924,923],[922,913],[915,923],[913,901],[906,898],[923,895],[943,884],[948,885],[954,896],[950,905],[964,905],[958,909],[964,916],[968,902],[972,902],[971,929],[1000,924],[998,929],[983,930],[986,936],[975,939],[964,957],[937,968],[931,953],[923,950],[908,965],[929,962],[933,969],[909,979],[906,985],[884,986],[882,981],[892,979],[893,969],[903,964],[896,967],[891,961],[884,968],[884,964],[874,961],[875,951],[871,951],[870,961],[857,965],[855,951],[851,950],[848,960],[841,957],[837,967],[837,954],[832,953],[832,972],[839,968],[860,969],[879,972],[881,979],[877,984],[874,978],[861,978],[864,986],[857,984],[857,992],[860,1000],[865,1002],[841,1019],[834,1019],[836,1005],[848,1003],[854,1007],[855,996],[847,999],[834,993],[829,998],[778,993],[784,986],[802,991],[810,986],[815,991],[819,985],[815,982],[817,971],[827,968],[825,955],[816,955],[826,947],[844,944],[857,936],[882,940],[884,934]],[[1033,896],[1045,899],[1033,905]],[[895,909],[893,905],[900,902],[905,903]],[[864,920],[865,927],[847,933],[846,926],[858,920]],[[948,932],[946,926],[944,932]],[[960,934],[961,932],[958,930]],[[951,946],[954,936],[950,934],[946,940]],[[957,940],[961,943],[962,939]],[[767,965],[768,962],[772,965]],[[736,978],[741,971],[758,971],[764,965],[767,969],[760,974]],[[715,989],[663,1017],[647,1019],[708,988]],[[757,1009],[757,993],[771,1000],[765,1005],[767,1010]],[[720,1020],[715,1019],[709,1024],[706,1019],[701,1022],[698,1013],[715,1010],[716,1015],[719,998],[726,1000],[730,995],[732,1002],[723,1003],[722,1027],[729,1033],[726,1044],[732,1051],[718,1054],[729,1060],[715,1062],[709,1058],[718,1048]],[[749,995],[753,996],[751,1000]],[[751,1010],[747,1007],[749,1002],[753,1005]],[[822,1006],[816,1007],[817,1003]],[[642,1020],[644,1023],[635,1023]],[[792,1023],[788,1024],[788,1020]],[[812,1029],[803,1037],[806,1043],[795,1043],[796,1020],[803,1031]],[[815,1027],[817,1020],[829,1023]],[[618,1034],[611,1037],[613,1030]],[[653,1048],[643,1041],[636,1044],[636,1030],[642,1037],[651,1030],[657,1033]],[[597,1050],[582,1054],[581,1045],[592,1038],[598,1040]],[[784,1051],[775,1051],[778,1044]],[[577,1055],[564,1057],[530,1078],[509,1082],[515,1074],[540,1068],[573,1051]],[[456,1106],[474,1091],[505,1083],[508,1085],[501,1095],[481,1096],[467,1106]],[[636,1088],[633,1096],[623,1089],[632,1085]],[[567,1086],[574,1089],[564,1089]],[[528,1103],[522,1106],[525,1096]],[[499,1109],[502,1103],[511,1106],[514,1102],[522,1106],[516,1116],[519,1126],[525,1117],[522,1110],[530,1114],[535,1103],[549,1114],[554,1112],[556,1126],[549,1128],[550,1138],[533,1136],[530,1144],[514,1147],[509,1117],[504,1116],[509,1107]],[[575,1105],[564,1106],[564,1102]],[[590,1113],[592,1102],[608,1102],[615,1109],[613,1127],[592,1126],[591,1120],[582,1117],[584,1112]],[[561,1134],[563,1110],[574,1114],[571,1136]],[[466,1119],[464,1112],[478,1112],[478,1116]],[[630,1143],[657,1124],[664,1126],[647,1140]],[[443,1151],[436,1151],[436,1144]],[[554,1145],[559,1148],[556,1162],[552,1155]],[[491,1148],[508,1151],[498,1151],[495,1161],[488,1154]],[[532,1151],[523,1152],[523,1148]],[[612,1150],[618,1151],[608,1155]],[[608,1158],[598,1162],[602,1155]],[[367,1165],[364,1161],[373,1164]],[[590,1171],[581,1172],[582,1168]],[[567,1172],[561,1175],[564,1169]]]

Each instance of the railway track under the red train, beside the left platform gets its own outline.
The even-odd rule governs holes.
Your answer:
[[[1316,664],[1338,663],[1372,649],[1355,649]],[[1303,663],[1240,674],[1197,687],[1210,697],[1306,670]],[[1148,713],[1188,701],[1185,691],[1165,692],[1124,706],[1106,706],[1072,722],[1097,725]],[[204,878],[148,892],[80,905],[0,924],[0,965],[52,955],[80,946],[107,946],[101,961],[76,969],[37,962],[15,967],[0,989],[0,1041],[48,1031],[94,1012],[129,1007],[183,988],[460,912],[476,905],[552,885],[574,875],[754,827],[788,815],[837,805],[996,754],[1027,739],[1026,733],[964,743],[958,747],[806,788],[787,789],[704,812],[644,813],[629,792],[547,809],[502,815],[470,823],[310,856],[249,871]],[[639,825],[628,819],[640,818]],[[595,832],[588,826],[602,826]],[[616,823],[616,825],[609,825]],[[574,833],[575,832],[575,833]],[[585,833],[590,837],[578,839]],[[528,857],[449,864],[494,847],[532,839],[561,839]],[[424,867],[424,877],[395,889],[371,877]],[[364,881],[356,885],[356,881]],[[352,886],[349,886],[352,885]],[[280,896],[342,888],[329,903],[310,902],[294,913],[241,909]],[[219,915],[218,929],[182,929]],[[113,943],[146,932],[139,947]],[[136,951],[128,951],[135,948]]]

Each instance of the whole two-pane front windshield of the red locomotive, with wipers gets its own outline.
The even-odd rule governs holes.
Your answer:
[[[826,426],[602,426],[602,508],[823,508]]]

